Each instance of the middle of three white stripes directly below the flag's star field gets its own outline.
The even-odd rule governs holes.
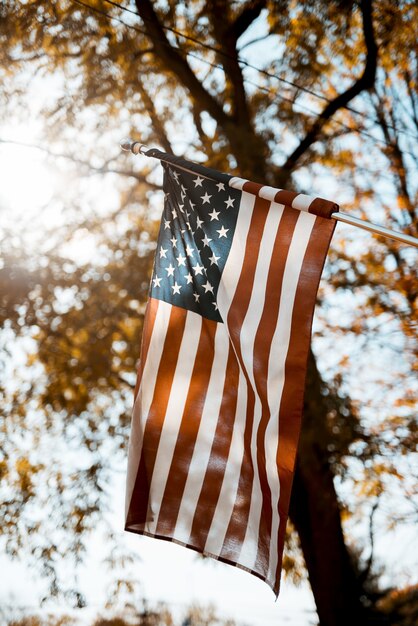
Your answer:
[[[176,371],[171,385],[150,485],[150,520],[146,523],[145,530],[152,534],[155,533],[161,501],[173,459],[199,345],[201,328],[202,317],[197,313],[187,311]]]

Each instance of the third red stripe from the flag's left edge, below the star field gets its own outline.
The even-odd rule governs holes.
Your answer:
[[[217,326],[217,322],[206,318],[202,320],[190,387],[161,501],[157,535],[171,535],[176,526],[211,376]],[[216,374],[219,375],[219,372]]]

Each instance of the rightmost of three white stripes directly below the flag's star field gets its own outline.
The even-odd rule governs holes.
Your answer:
[[[193,456],[190,461],[186,485],[184,487],[177,517],[177,524],[173,533],[173,536],[183,543],[189,543],[193,518],[210,460],[210,453],[222,404],[229,353],[229,337],[225,324],[217,325],[214,343],[215,351],[205,405],[200,420]]]

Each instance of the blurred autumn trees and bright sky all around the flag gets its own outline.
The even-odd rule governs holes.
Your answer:
[[[416,250],[337,225],[277,602],[123,532],[163,194],[131,136],[417,236],[414,2],[0,6],[0,621],[418,621]],[[414,28],[415,26],[415,28]]]

